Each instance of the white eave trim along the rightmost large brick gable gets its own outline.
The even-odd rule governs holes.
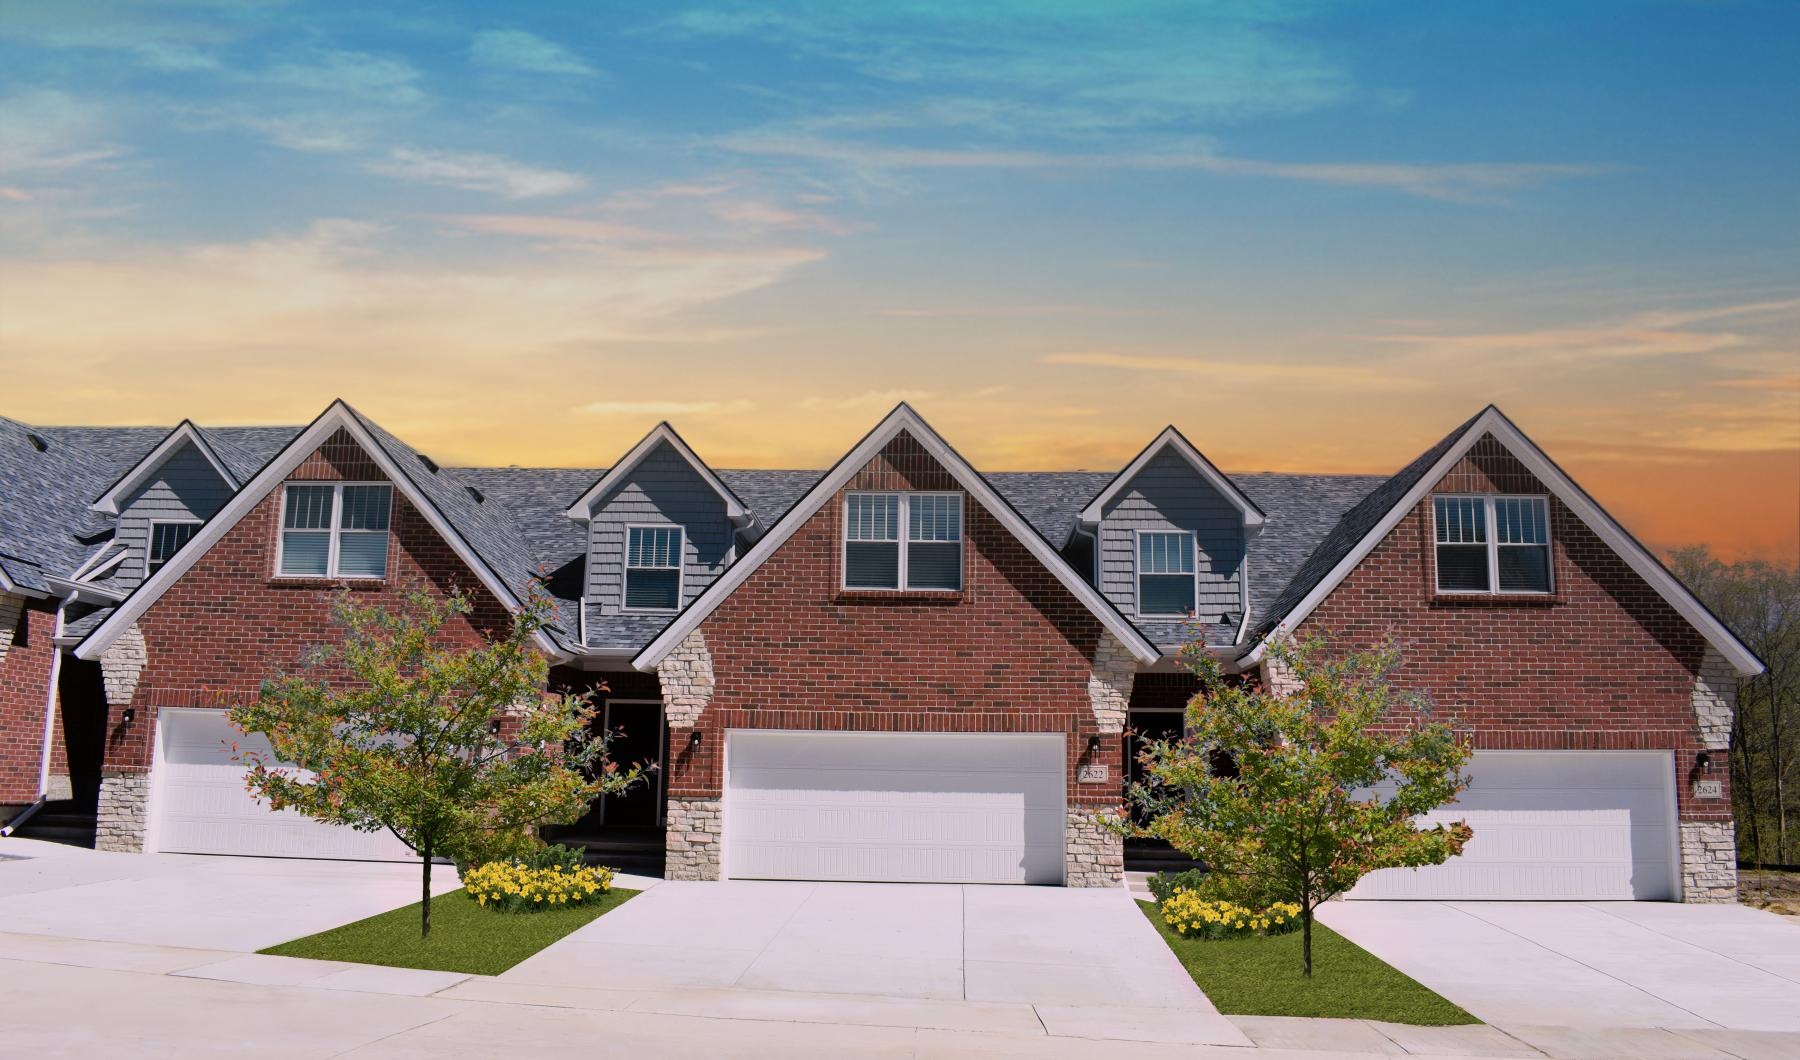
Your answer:
[[[1719,617],[1714,615],[1706,605],[1688,590],[1687,585],[1681,585],[1679,578],[1670,574],[1649,549],[1638,543],[1638,538],[1631,536],[1631,533],[1607,515],[1586,490],[1577,486],[1575,481],[1555,464],[1555,461],[1544,455],[1544,452],[1537,448],[1537,445],[1528,439],[1525,432],[1514,427],[1514,423],[1492,405],[1489,405],[1481,416],[1469,425],[1463,436],[1456,439],[1456,445],[1438,457],[1438,463],[1431,464],[1431,470],[1427,470],[1418,482],[1408,490],[1386,515],[1381,517],[1381,522],[1377,522],[1375,527],[1368,531],[1368,534],[1364,534],[1363,540],[1357,542],[1357,545],[1350,549],[1350,552],[1345,554],[1336,567],[1332,567],[1330,574],[1314,585],[1312,592],[1294,605],[1294,610],[1282,615],[1274,632],[1264,637],[1256,648],[1244,657],[1244,664],[1249,666],[1258,662],[1273,639],[1283,635],[1287,630],[1298,628],[1300,623],[1314,612],[1314,608],[1325,603],[1325,597],[1328,597],[1332,590],[1336,590],[1337,585],[1350,576],[1350,570],[1354,570],[1357,563],[1375,551],[1375,545],[1379,545],[1388,533],[1393,531],[1393,527],[1399,526],[1399,522],[1431,493],[1433,486],[1436,486],[1444,475],[1447,475],[1449,470],[1469,454],[1483,434],[1492,434],[1503,446],[1507,446],[1507,452],[1517,457],[1517,461],[1537,477],[1539,482],[1555,493],[1557,500],[1575,513],[1575,518],[1582,520],[1588,529],[1611,545],[1611,549],[1618,552],[1618,556],[1625,560],[1625,563],[1631,565],[1631,569],[1636,570],[1658,596],[1669,601],[1669,606],[1676,608],[1683,619],[1699,630],[1706,642],[1712,644],[1733,669],[1737,669],[1739,677],[1755,677],[1766,669],[1755,651],[1746,648],[1744,642],[1739,641],[1737,635],[1732,633],[1732,630],[1726,628],[1726,624],[1719,621]]]

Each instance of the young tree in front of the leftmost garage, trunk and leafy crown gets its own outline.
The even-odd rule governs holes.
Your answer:
[[[605,759],[585,696],[544,691],[535,633],[549,608],[531,592],[504,635],[454,646],[446,626],[470,612],[461,592],[414,585],[400,606],[344,592],[333,605],[342,642],[315,648],[310,673],[268,680],[230,713],[274,750],[245,754],[245,783],[270,808],[385,828],[419,855],[421,936],[434,857],[526,849],[533,826],[574,821],[641,774]]]

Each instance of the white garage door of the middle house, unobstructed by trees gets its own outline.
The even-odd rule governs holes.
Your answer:
[[[725,873],[1060,884],[1064,740],[733,731]]]

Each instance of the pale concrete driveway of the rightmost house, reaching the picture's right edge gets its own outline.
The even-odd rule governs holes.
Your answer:
[[[1800,1031],[1800,923],[1759,909],[1332,902],[1319,920],[1490,1024]]]

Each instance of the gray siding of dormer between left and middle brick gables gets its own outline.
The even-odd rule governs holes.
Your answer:
[[[679,452],[662,443],[594,506],[587,561],[590,615],[623,612],[625,540],[632,526],[679,526],[686,531],[682,606],[731,563],[736,534],[725,515],[725,500]]]

